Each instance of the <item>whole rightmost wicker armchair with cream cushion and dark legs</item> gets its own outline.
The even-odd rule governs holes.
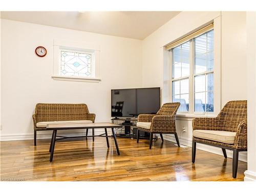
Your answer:
[[[238,154],[247,151],[247,101],[229,101],[216,118],[193,119],[192,162],[195,163],[196,143],[233,151],[233,178],[237,177]]]

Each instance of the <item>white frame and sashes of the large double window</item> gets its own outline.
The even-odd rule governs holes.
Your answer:
[[[189,37],[189,39],[187,38],[184,38],[184,40],[179,40],[179,43],[175,43],[174,42],[174,45],[173,46],[168,46],[166,47],[166,51],[168,52],[168,65],[169,65],[169,101],[173,102],[173,82],[176,81],[176,80],[181,80],[181,79],[186,79],[188,78],[188,81],[189,81],[189,93],[188,93],[188,99],[189,99],[189,109],[188,111],[178,111],[177,114],[178,115],[183,115],[183,116],[215,116],[217,114],[217,111],[220,109],[218,107],[218,105],[221,103],[220,101],[219,102],[216,102],[216,98],[218,99],[218,96],[217,95],[217,90],[219,90],[219,88],[216,88],[217,86],[219,86],[219,83],[218,83],[218,80],[215,80],[216,78],[218,78],[220,75],[216,75],[216,70],[217,70],[217,73],[218,73],[218,70],[219,70],[219,67],[218,67],[218,53],[215,53],[217,52],[216,51],[216,45],[217,45],[217,41],[219,40],[219,38],[216,36],[216,29],[217,28],[217,34],[218,34],[218,22],[217,22],[217,27],[216,27],[216,24],[204,31],[202,31],[201,33],[197,33],[197,31],[195,32],[196,34],[194,36],[191,36]],[[211,30],[214,30],[214,70],[211,70],[211,71],[205,71],[205,72],[202,72],[202,73],[198,73],[198,74],[195,74],[195,38],[202,35],[202,34],[205,34]],[[200,30],[198,30],[200,31]],[[184,44],[185,42],[189,41],[189,47],[190,47],[190,51],[189,51],[189,76],[186,76],[186,77],[180,77],[180,78],[175,78],[173,79],[173,49]],[[218,55],[218,56],[217,56]],[[217,59],[217,60],[216,60]],[[217,66],[216,66],[217,65]],[[198,76],[198,75],[207,75],[207,74],[210,74],[210,73],[213,73],[214,74],[214,112],[195,112],[195,77]],[[217,77],[216,77],[217,76]],[[219,86],[220,87],[220,86]],[[220,92],[220,91],[219,91]],[[205,92],[204,92],[205,93]],[[221,94],[221,93],[220,93]]]

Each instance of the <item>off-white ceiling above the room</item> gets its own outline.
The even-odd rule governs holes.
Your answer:
[[[53,27],[144,39],[178,11],[2,11],[1,17]]]

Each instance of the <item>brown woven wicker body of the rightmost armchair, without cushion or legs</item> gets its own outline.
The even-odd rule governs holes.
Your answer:
[[[193,119],[193,130],[236,132],[236,139],[233,145],[196,137],[193,137],[193,139],[196,142],[205,142],[231,148],[247,148],[247,101],[227,102],[216,118]]]

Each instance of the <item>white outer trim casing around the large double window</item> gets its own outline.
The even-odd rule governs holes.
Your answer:
[[[194,107],[189,107],[188,112],[177,112],[179,119],[189,119],[195,117],[216,117],[221,110],[221,16],[211,20],[208,23],[214,22],[214,112],[194,112]],[[206,24],[204,25],[206,26]],[[185,41],[184,41],[185,42]],[[164,77],[163,77],[163,102],[172,102],[172,62],[170,51],[163,49],[163,65],[164,65]],[[194,49],[192,47],[192,49]],[[190,51],[193,51],[190,49]],[[192,57],[193,55],[190,54]],[[191,59],[193,60],[193,59]],[[190,65],[191,66],[191,65]],[[194,70],[194,67],[190,70]],[[192,81],[192,82],[191,82]],[[194,103],[194,79],[189,79],[189,101]],[[190,91],[193,93],[190,94]]]

